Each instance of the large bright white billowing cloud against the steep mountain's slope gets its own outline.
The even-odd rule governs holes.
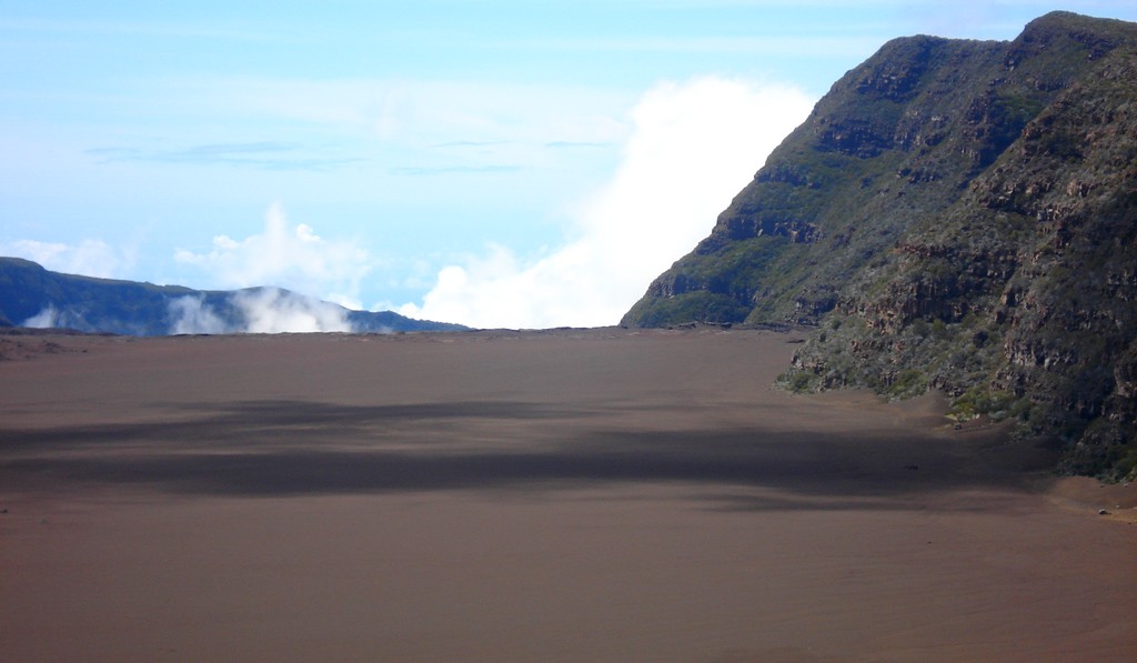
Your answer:
[[[441,270],[422,305],[399,312],[482,328],[617,323],[709,233],[814,101],[792,88],[717,77],[657,85],[631,111],[622,164],[581,206],[570,241],[530,259],[490,246]]]

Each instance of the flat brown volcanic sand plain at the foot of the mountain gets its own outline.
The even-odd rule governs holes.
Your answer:
[[[0,661],[1134,660],[1137,487],[790,340],[7,337]]]

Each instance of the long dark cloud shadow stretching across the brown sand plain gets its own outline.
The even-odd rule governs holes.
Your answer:
[[[895,429],[844,434],[752,428],[621,430],[598,413],[522,401],[346,406],[248,401],[168,421],[0,429],[0,479],[223,496],[558,490],[677,482],[791,494],[738,508],[849,508],[864,500],[1022,484],[1037,449]],[[599,422],[599,423],[598,423]],[[476,430],[475,440],[465,434]],[[896,504],[903,504],[903,500]],[[891,507],[903,508],[903,506]]]

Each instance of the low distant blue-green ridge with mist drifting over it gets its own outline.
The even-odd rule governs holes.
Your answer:
[[[93,279],[0,257],[0,326],[131,335],[274,331],[453,331],[463,325],[349,310],[276,288],[202,291]]]

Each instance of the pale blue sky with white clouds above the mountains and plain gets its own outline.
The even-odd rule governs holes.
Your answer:
[[[1018,0],[0,2],[0,255],[616,324],[845,72]]]

